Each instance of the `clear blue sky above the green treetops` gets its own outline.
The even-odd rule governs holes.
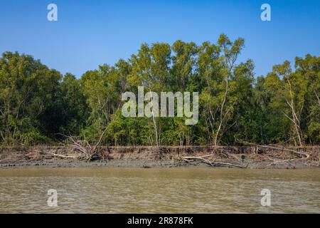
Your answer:
[[[47,20],[50,3],[58,6],[56,22]],[[263,3],[272,21],[260,20]],[[1,53],[31,54],[78,77],[129,58],[141,43],[215,43],[220,33],[245,38],[240,60],[252,58],[260,76],[295,56],[319,56],[320,1],[0,0]]]

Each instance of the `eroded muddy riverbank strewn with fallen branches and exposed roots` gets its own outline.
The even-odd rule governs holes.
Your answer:
[[[0,168],[21,167],[238,167],[319,168],[320,147],[100,147],[85,160],[66,147],[0,147]]]

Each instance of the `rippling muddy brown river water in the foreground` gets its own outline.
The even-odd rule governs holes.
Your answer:
[[[320,213],[320,170],[0,170],[0,213]]]

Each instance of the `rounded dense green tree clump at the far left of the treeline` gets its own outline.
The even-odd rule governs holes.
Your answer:
[[[50,70],[31,56],[3,53],[0,59],[1,138],[5,144],[23,143],[21,134],[36,129],[34,137],[56,133],[53,108],[57,98],[58,71]],[[50,123],[50,121],[52,121]],[[28,141],[33,141],[28,135]],[[44,138],[43,138],[44,139]]]

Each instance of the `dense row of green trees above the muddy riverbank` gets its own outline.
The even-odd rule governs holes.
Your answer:
[[[114,66],[61,75],[32,56],[0,59],[0,144],[55,144],[74,135],[103,145],[319,145],[320,56],[296,58],[255,77],[239,63],[244,40],[142,44]],[[122,93],[137,86],[199,92],[199,121],[124,118]]]

